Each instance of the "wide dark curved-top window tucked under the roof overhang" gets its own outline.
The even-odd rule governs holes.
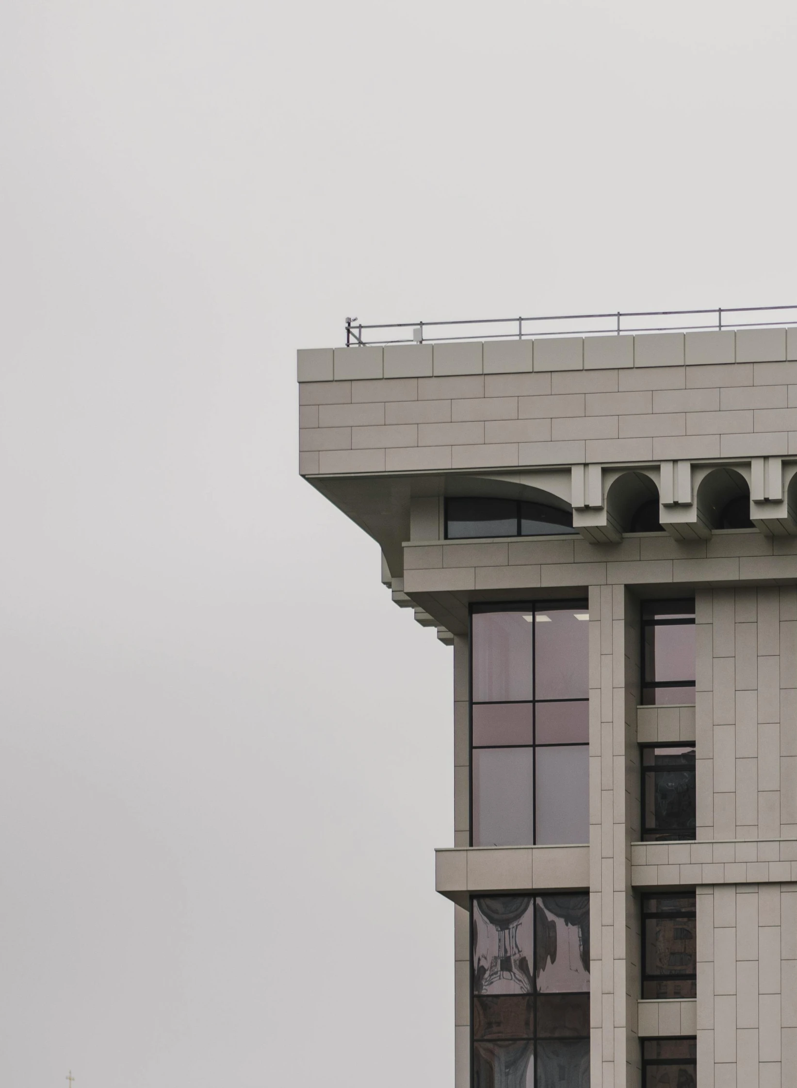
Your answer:
[[[575,533],[571,510],[513,498],[447,498],[446,539]]]

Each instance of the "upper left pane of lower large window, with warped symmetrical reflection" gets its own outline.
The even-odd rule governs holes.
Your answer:
[[[474,993],[531,993],[534,989],[533,902],[531,895],[474,899]]]

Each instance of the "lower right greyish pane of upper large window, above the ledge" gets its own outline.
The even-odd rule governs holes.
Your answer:
[[[589,747],[538,747],[536,841],[589,842]]]

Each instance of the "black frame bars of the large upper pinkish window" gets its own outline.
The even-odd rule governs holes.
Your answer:
[[[536,705],[537,703],[589,703],[589,695],[584,698],[520,698],[520,700],[498,700],[494,703],[488,703],[485,701],[477,701],[476,706],[484,705],[497,705],[497,703],[514,703],[532,705],[532,743],[531,744],[480,744],[474,749],[473,745],[473,617],[476,613],[493,613],[493,611],[520,611],[536,615],[536,610],[539,609],[561,609],[561,608],[573,608],[581,609],[582,611],[589,611],[589,601],[586,597],[577,597],[574,599],[559,599],[559,601],[512,601],[512,602],[497,602],[494,604],[489,603],[478,603],[472,604],[469,608],[468,615],[468,842],[473,846],[473,753],[474,751],[480,751],[483,749],[494,749],[496,746],[500,747],[531,747],[532,749],[532,783],[534,789],[533,798],[533,812],[532,812],[532,842],[522,843],[522,845],[535,846],[537,844],[537,747],[586,747],[589,749],[589,740],[586,741],[572,742],[570,744],[537,744],[537,715]],[[536,631],[537,621],[536,619],[532,623],[533,630],[533,643],[532,643],[532,691],[536,695],[537,693],[537,645],[536,645]]]

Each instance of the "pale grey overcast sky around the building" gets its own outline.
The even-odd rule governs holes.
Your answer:
[[[0,1081],[452,1083],[451,652],[343,320],[797,302],[797,8],[4,0]]]

